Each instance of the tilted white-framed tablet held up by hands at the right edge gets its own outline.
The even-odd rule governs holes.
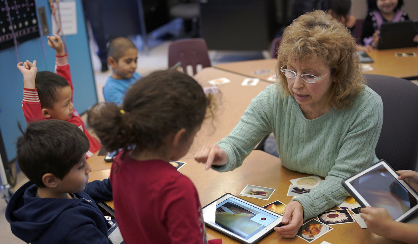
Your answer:
[[[395,221],[405,221],[418,209],[417,193],[385,160],[342,181],[361,206],[385,208]]]

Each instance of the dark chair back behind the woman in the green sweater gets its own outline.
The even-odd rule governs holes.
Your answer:
[[[415,170],[418,162],[418,86],[392,76],[365,75],[383,102],[377,158],[395,170]]]

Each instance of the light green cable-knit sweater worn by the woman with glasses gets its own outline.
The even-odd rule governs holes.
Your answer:
[[[295,199],[302,204],[306,221],[349,196],[341,180],[378,161],[375,147],[382,120],[382,99],[367,86],[351,107],[331,108],[319,118],[306,119],[294,97],[284,97],[280,85],[272,84],[252,99],[240,122],[218,142],[228,163],[212,168],[224,172],[239,167],[273,132],[283,166],[325,177],[310,193]]]

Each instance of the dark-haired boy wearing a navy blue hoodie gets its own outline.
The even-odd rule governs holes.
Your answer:
[[[86,135],[59,119],[34,122],[22,133],[17,160],[30,181],[6,208],[13,234],[32,244],[110,243],[110,224],[96,203],[111,200],[112,187],[108,179],[87,183]]]

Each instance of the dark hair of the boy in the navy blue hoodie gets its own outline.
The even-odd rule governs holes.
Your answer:
[[[59,119],[28,124],[16,142],[22,172],[42,188],[42,176],[51,173],[62,179],[89,150],[89,140],[74,124]]]

